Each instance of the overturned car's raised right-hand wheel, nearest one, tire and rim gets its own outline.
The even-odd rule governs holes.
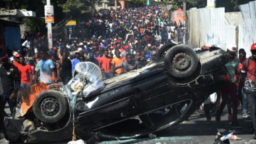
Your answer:
[[[176,78],[186,78],[192,75],[196,71],[197,66],[197,54],[187,45],[173,46],[165,54],[165,67]]]

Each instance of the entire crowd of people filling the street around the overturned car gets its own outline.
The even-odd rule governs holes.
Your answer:
[[[95,63],[102,71],[103,79],[106,80],[140,69],[156,60],[159,49],[171,43],[175,37],[179,43],[184,44],[188,39],[188,33],[181,21],[179,23],[171,21],[162,6],[102,11],[83,21],[80,26],[80,30],[75,34],[70,33],[69,37],[54,37],[54,46],[50,49],[45,42],[46,38],[38,33],[27,37],[22,44],[22,51],[11,51],[8,47],[0,52],[0,87],[2,88],[0,105],[8,102],[13,112],[14,106],[21,103],[21,99],[16,97],[18,95],[22,97],[22,91],[33,84],[62,82],[66,85],[72,78],[75,65],[79,62]],[[203,49],[207,48],[209,47],[203,47]],[[256,44],[252,45],[251,51],[253,55],[247,60],[245,51],[240,49],[237,58],[236,46],[228,48],[230,61],[226,67],[232,76],[232,84],[214,93],[212,95],[216,97],[214,101],[204,103],[207,124],[211,121],[212,107],[217,103],[216,120],[220,121],[222,111],[227,104],[231,126],[240,128],[237,122],[239,100],[243,106],[244,117],[249,117],[249,103],[253,121],[252,130],[256,129],[254,76]],[[222,103],[219,105],[220,98]],[[0,115],[8,116],[2,110]]]

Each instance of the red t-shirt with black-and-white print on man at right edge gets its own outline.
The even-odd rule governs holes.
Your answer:
[[[252,57],[249,57],[247,70],[246,61],[243,61],[241,72],[247,72],[244,83],[244,89],[256,92],[256,62],[252,59]]]

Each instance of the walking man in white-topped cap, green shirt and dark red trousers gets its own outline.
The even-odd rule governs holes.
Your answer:
[[[228,95],[230,95],[232,98],[232,103],[233,103],[232,104],[233,115],[232,115],[231,127],[241,128],[237,122],[238,97],[237,97],[236,80],[234,78],[234,75],[237,74],[237,70],[239,67],[239,59],[236,57],[236,53],[237,53],[236,47],[237,46],[229,46],[229,48],[227,49],[229,62],[225,66],[228,69],[228,72],[230,73],[232,83],[229,86],[227,86],[221,90],[222,103],[219,106],[219,109],[217,111],[215,118],[216,118],[216,121],[221,120],[222,111],[223,111],[225,105],[227,104]]]

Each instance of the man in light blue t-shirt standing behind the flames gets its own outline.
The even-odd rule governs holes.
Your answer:
[[[38,61],[38,69],[40,70],[40,82],[52,84],[56,81],[54,64],[51,59],[47,58],[45,51],[40,51],[41,60]]]

